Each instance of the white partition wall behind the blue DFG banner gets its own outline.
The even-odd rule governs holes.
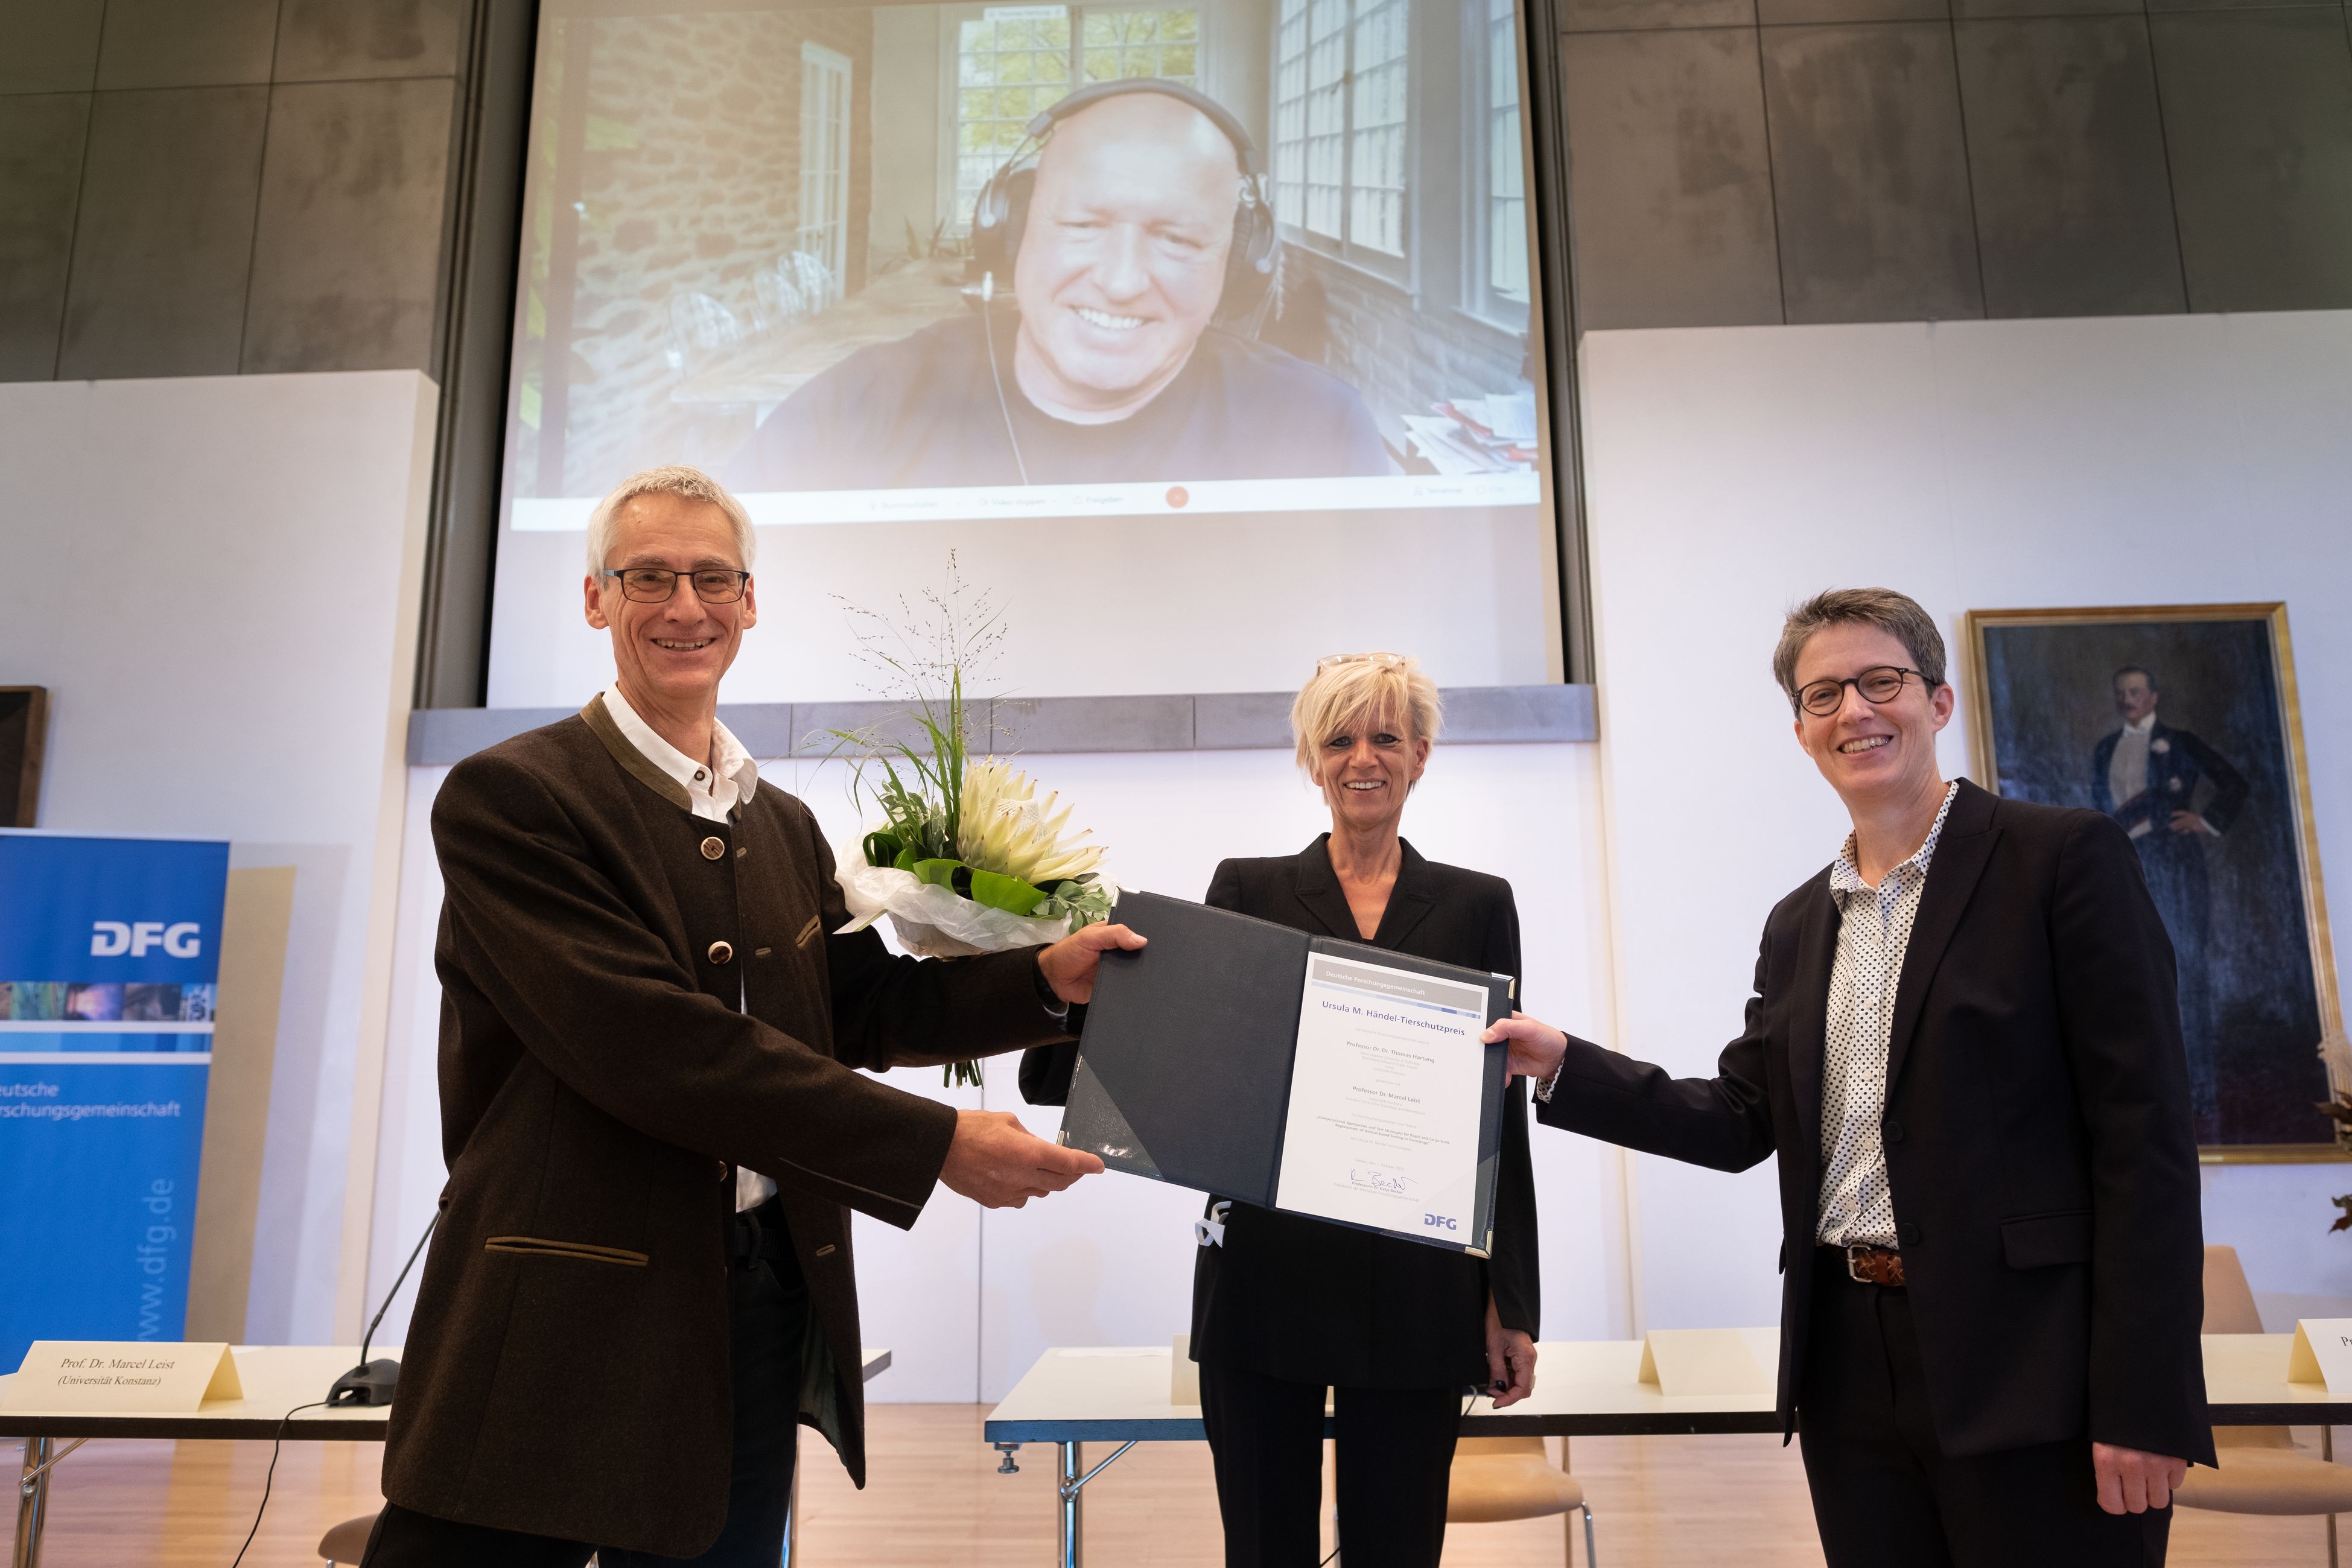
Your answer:
[[[435,397],[416,371],[0,386],[0,679],[49,689],[40,825],[294,867],[254,1342],[360,1321]]]

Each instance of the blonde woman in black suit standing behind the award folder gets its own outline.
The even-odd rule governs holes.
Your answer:
[[[1437,726],[1437,684],[1411,658],[1324,658],[1291,703],[1291,736],[1331,809],[1331,832],[1296,856],[1225,860],[1207,903],[1517,976],[1510,884],[1423,860],[1397,832]],[[1077,1046],[1030,1051],[1023,1093],[1061,1103],[1075,1058]],[[1505,1091],[1494,1258],[1484,1262],[1225,1199],[1211,1199],[1209,1218],[1223,1222],[1223,1241],[1195,1260],[1192,1359],[1228,1568],[1308,1568],[1322,1556],[1324,1389],[1338,1434],[1343,1561],[1437,1568],[1463,1396],[1486,1392],[1510,1406],[1536,1375],[1536,1185],[1522,1079]]]

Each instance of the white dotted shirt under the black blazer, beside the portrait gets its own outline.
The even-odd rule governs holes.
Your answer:
[[[1830,863],[1837,900],[1837,961],[1830,966],[1828,1030],[1820,1051],[1820,1225],[1825,1246],[1893,1246],[1896,1204],[1886,1185],[1886,1053],[1896,1023],[1903,954],[1919,917],[1926,865],[1952,813],[1959,783],[1910,860],[1863,882],[1853,835]]]

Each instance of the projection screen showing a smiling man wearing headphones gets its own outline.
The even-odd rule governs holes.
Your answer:
[[[1331,651],[1559,679],[1512,0],[550,0],[494,705],[583,701],[586,520],[760,524],[731,701],[858,696],[948,552],[1023,696]]]

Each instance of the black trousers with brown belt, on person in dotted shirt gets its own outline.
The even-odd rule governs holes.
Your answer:
[[[1830,1568],[2164,1568],[2173,1512],[2107,1514],[2091,1441],[1945,1458],[1910,1293],[1813,1248],[1797,1434]]]

